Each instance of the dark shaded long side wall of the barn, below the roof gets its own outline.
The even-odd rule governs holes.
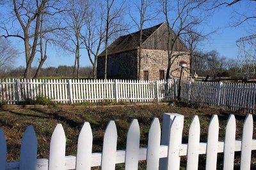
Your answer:
[[[131,50],[108,56],[108,79],[136,80],[138,74],[137,51]],[[104,78],[105,57],[97,60],[97,78]]]

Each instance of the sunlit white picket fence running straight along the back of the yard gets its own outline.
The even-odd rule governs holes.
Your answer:
[[[175,95],[173,81],[137,80],[0,80],[0,101],[17,104],[26,99],[47,97],[58,103],[102,101],[152,102]]]

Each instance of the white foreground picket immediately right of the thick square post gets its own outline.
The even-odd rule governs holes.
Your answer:
[[[200,122],[195,116],[189,127],[187,169],[198,169],[198,150],[200,142]]]

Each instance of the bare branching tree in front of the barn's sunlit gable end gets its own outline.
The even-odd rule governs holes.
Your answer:
[[[168,25],[168,67],[166,71],[166,80],[170,78],[171,67],[180,55],[188,52],[174,53],[175,44],[181,36],[188,34],[188,28],[193,25],[199,25],[205,19],[204,15],[200,13],[200,7],[204,5],[205,1],[200,0],[160,0],[164,20]],[[173,31],[176,35],[173,36]],[[179,50],[179,49],[176,49]]]

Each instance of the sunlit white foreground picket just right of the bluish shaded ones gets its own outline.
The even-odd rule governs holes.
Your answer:
[[[49,154],[49,170],[65,169],[66,137],[61,124],[56,125],[52,133]]]

